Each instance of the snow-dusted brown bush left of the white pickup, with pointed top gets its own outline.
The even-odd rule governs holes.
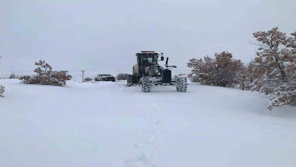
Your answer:
[[[20,77],[22,83],[62,86],[66,85],[67,80],[72,78],[71,75],[67,75],[68,71],[52,71],[52,67],[45,61],[35,62],[35,65],[39,66],[34,70],[37,75]]]

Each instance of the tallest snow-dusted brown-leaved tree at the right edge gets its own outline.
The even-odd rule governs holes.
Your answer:
[[[273,28],[267,32],[253,33],[258,43],[255,62],[262,77],[255,79],[252,90],[269,96],[267,108],[296,104],[296,32],[287,38],[285,33]]]

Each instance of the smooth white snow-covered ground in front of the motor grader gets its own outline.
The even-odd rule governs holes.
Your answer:
[[[19,82],[0,79],[0,166],[296,166],[296,107],[256,92]]]

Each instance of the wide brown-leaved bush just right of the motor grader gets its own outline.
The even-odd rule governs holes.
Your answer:
[[[209,56],[204,60],[192,58],[187,66],[192,69],[192,74],[196,75],[196,82],[206,85],[231,86],[235,82],[237,71],[243,63],[240,60],[232,59],[232,54],[223,51],[215,53],[215,58]]]

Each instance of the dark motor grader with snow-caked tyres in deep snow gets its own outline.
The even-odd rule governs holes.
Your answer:
[[[158,58],[160,57],[160,60]],[[170,69],[176,66],[168,66],[168,57],[164,66],[160,66],[158,61],[164,61],[163,53],[154,51],[141,51],[136,53],[137,64],[133,66],[133,74],[128,75],[127,83],[131,85],[142,85],[143,92],[150,92],[152,85],[176,86],[178,92],[187,91],[187,77],[178,77],[172,80]]]

